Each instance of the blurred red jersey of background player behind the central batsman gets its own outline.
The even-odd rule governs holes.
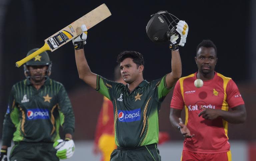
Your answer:
[[[112,102],[104,96],[102,108],[98,117],[94,143],[98,145],[99,138],[102,134],[115,135],[114,113]]]

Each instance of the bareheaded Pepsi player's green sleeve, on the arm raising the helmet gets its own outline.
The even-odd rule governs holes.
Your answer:
[[[158,100],[162,102],[166,95],[171,91],[172,88],[168,89],[166,85],[166,75],[163,76],[157,83]]]

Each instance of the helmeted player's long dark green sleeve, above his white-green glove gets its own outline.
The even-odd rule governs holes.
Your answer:
[[[73,134],[75,129],[75,116],[70,103],[68,94],[61,84],[60,91],[58,93],[58,102],[59,102],[59,115],[60,122],[63,128],[64,134]]]

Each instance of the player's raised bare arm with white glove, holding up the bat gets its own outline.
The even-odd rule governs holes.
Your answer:
[[[75,48],[76,66],[79,78],[92,88],[97,88],[97,75],[92,73],[84,55],[84,45],[86,44],[87,29],[85,25],[81,26],[83,33],[73,40]]]

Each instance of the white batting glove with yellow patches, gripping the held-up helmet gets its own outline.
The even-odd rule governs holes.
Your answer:
[[[180,42],[178,45],[184,46],[188,35],[188,24],[185,21],[180,20],[176,27],[176,31],[179,33],[180,36]]]

